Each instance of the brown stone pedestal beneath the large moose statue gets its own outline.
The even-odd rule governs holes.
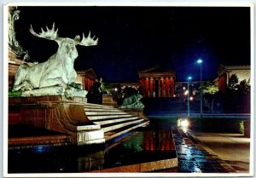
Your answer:
[[[22,123],[67,134],[74,145],[105,142],[100,125],[84,112],[84,98],[64,96],[9,98],[9,123]]]

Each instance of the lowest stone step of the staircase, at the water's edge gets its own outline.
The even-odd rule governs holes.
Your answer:
[[[119,135],[123,135],[126,132],[131,131],[132,129],[137,129],[138,127],[143,127],[146,125],[148,125],[148,121],[143,121],[142,123],[133,123],[131,125],[121,128],[121,129],[115,129],[115,130],[105,132],[104,137],[105,137],[106,141],[110,141],[110,140],[118,137]]]

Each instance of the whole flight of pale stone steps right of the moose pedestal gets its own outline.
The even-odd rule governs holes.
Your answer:
[[[90,121],[101,126],[106,141],[148,124],[148,120],[113,106],[85,103],[84,112]]]

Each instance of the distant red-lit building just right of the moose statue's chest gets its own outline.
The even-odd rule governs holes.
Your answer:
[[[90,91],[93,83],[96,82],[96,72],[90,68],[84,71],[77,71],[77,78],[75,83],[81,83],[83,86],[83,89]]]

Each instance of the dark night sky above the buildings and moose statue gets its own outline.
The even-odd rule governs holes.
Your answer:
[[[219,64],[250,65],[250,9],[235,7],[18,7],[16,38],[32,60],[44,61],[57,43],[32,36],[40,28],[59,28],[60,37],[99,37],[93,47],[77,46],[74,68],[94,68],[104,82],[137,81],[152,66],[188,75],[216,78]]]

